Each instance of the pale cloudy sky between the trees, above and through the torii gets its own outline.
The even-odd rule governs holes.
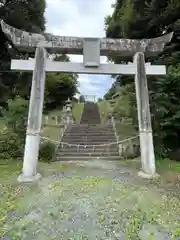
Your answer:
[[[105,37],[104,18],[111,14],[114,0],[46,0],[47,31],[62,36]],[[71,56],[82,62],[82,56]],[[101,58],[101,62],[106,62]],[[102,97],[112,79],[101,75],[79,75],[81,94]]]

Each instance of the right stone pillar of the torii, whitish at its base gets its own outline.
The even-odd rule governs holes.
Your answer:
[[[137,67],[135,74],[135,88],[142,164],[142,170],[138,173],[138,175],[144,178],[154,178],[157,177],[158,174],[156,173],[155,167],[153,134],[144,53],[136,53],[134,56],[134,63]]]

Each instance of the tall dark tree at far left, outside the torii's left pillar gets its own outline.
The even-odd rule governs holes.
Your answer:
[[[45,30],[45,0],[3,0],[0,4],[0,16],[6,23],[29,32],[42,33]],[[16,95],[27,96],[31,83],[30,73],[13,73],[10,71],[12,58],[25,58],[14,47],[0,28],[0,96],[1,106],[7,106],[9,98]],[[27,56],[26,56],[27,57]],[[24,93],[25,90],[25,93]]]

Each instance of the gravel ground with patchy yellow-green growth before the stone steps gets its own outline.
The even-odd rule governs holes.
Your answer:
[[[64,165],[24,194],[1,239],[180,239],[180,201],[135,170],[115,161]]]

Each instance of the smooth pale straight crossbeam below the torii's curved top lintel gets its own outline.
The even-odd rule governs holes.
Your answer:
[[[11,69],[14,71],[33,71],[35,60],[11,60]],[[99,67],[85,67],[83,63],[46,61],[46,72],[64,72],[79,74],[102,74],[102,75],[134,75],[136,64],[100,64]],[[147,75],[165,75],[164,65],[146,64]]]

